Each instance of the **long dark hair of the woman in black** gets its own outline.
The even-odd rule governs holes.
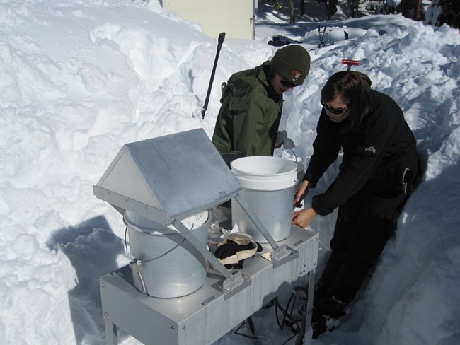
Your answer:
[[[355,129],[372,111],[372,81],[357,71],[340,71],[328,79],[321,90],[321,99],[330,102],[340,95],[350,111],[343,131]]]

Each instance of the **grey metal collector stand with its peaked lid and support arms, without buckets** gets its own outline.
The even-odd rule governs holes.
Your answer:
[[[117,327],[144,344],[212,344],[299,277],[308,279],[304,344],[310,343],[318,234],[292,226],[288,238],[275,242],[241,197],[241,189],[203,129],[122,147],[93,187],[96,197],[122,215],[130,211],[162,226],[173,225],[209,267],[197,291],[172,298],[139,291],[129,265],[102,276],[108,345],[117,344]],[[268,240],[264,251],[270,255],[266,259],[258,253],[245,260],[243,269],[229,271],[183,220],[232,198]]]

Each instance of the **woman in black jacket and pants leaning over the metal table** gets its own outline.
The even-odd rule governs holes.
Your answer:
[[[314,153],[294,197],[299,204],[343,150],[334,182],[313,197],[311,207],[292,215],[293,224],[306,227],[317,214],[338,207],[330,257],[315,286],[314,338],[332,329],[328,319],[345,315],[420,180],[415,138],[403,111],[371,84],[357,71],[338,72],[326,82]]]

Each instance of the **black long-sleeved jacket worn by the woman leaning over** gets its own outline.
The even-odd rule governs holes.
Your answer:
[[[320,215],[330,214],[353,194],[365,187],[369,193],[389,197],[401,192],[403,172],[410,169],[413,177],[420,171],[415,137],[401,108],[388,95],[372,91],[373,110],[357,129],[343,131],[347,119],[335,123],[326,111],[321,112],[314,153],[304,180],[311,187],[343,149],[343,161],[334,182],[312,201]],[[407,178],[408,176],[406,176]]]

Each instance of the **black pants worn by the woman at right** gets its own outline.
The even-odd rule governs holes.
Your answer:
[[[314,314],[340,317],[396,229],[406,194],[376,197],[363,188],[338,209],[332,252],[316,284]]]

